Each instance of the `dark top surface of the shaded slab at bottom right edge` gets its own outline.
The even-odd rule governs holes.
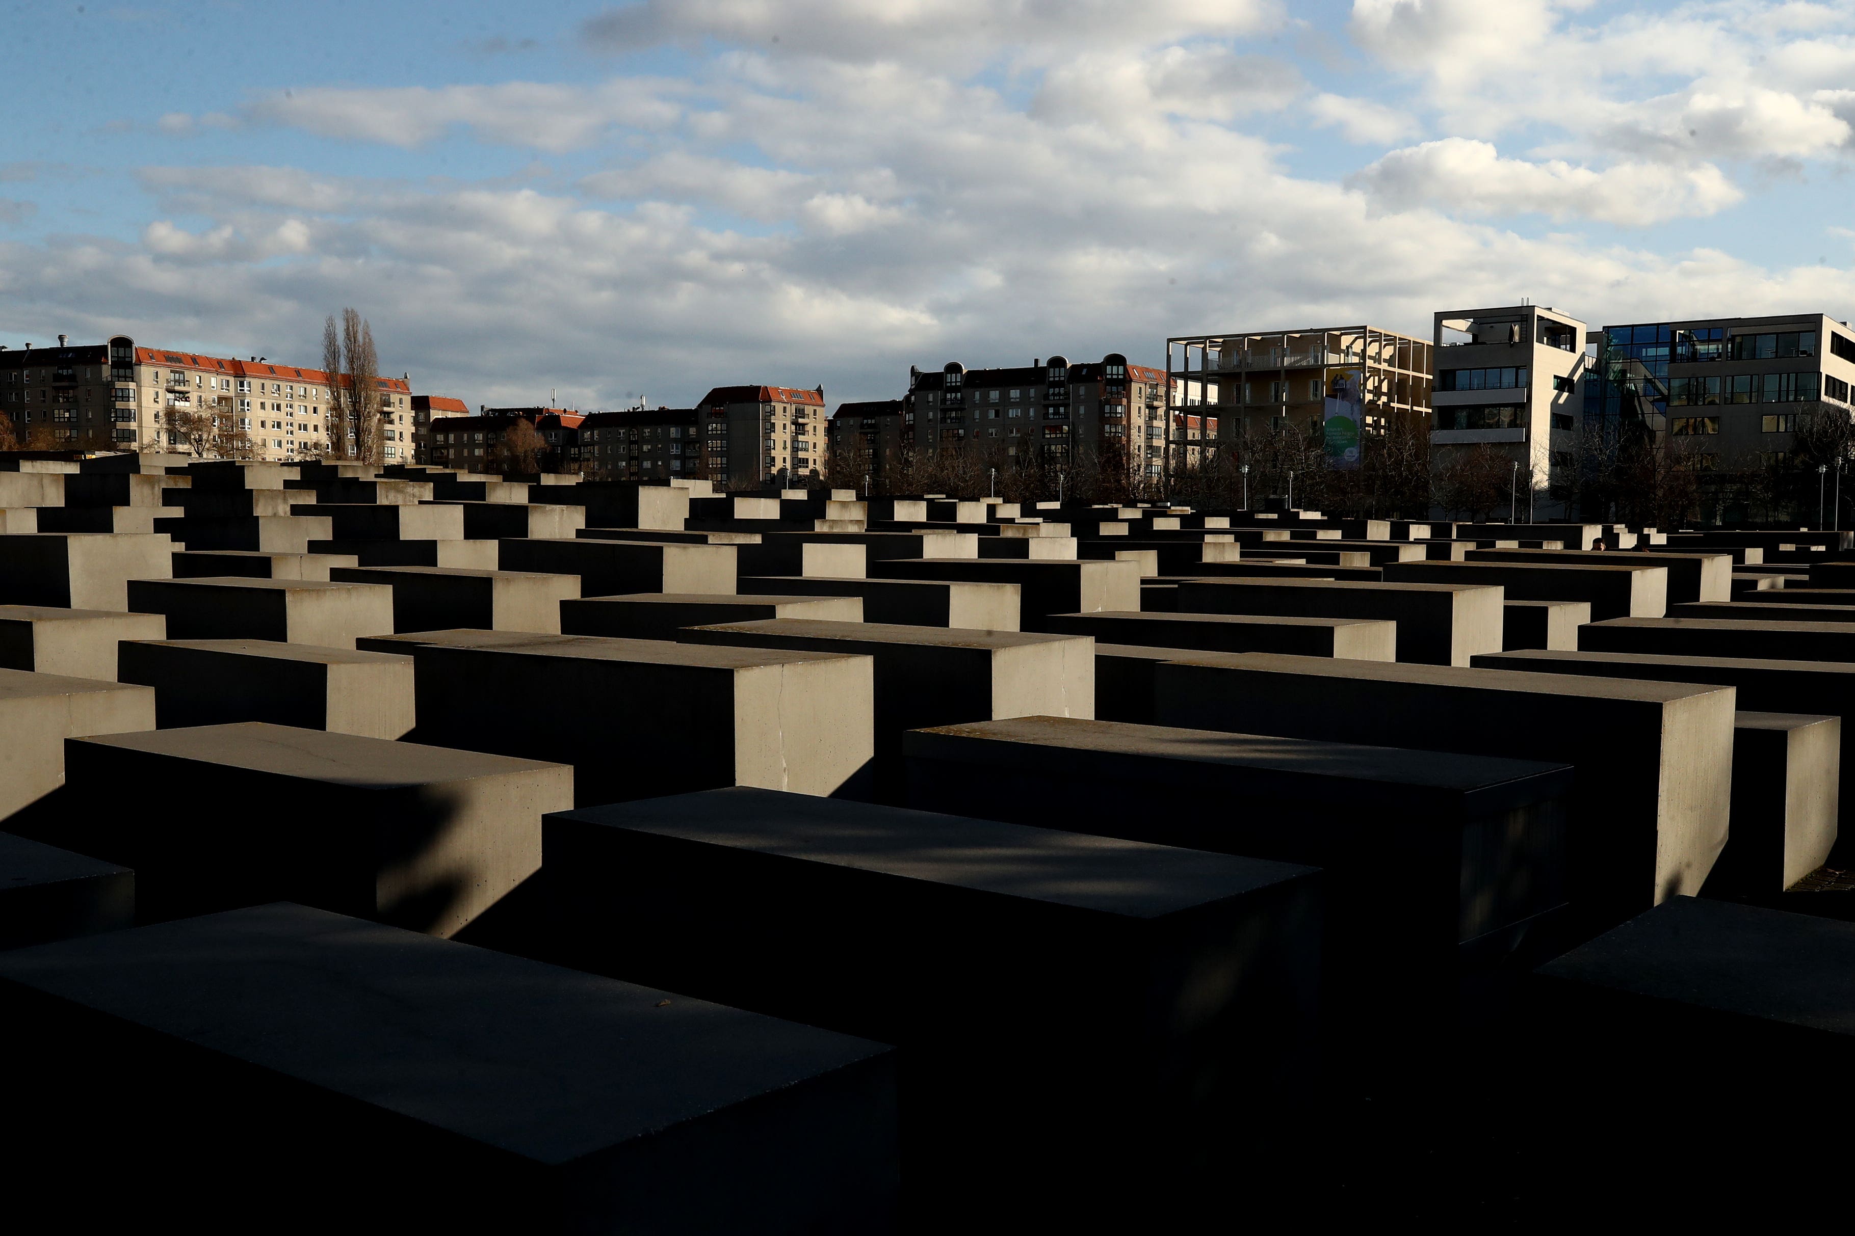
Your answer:
[[[1810,914],[1671,897],[1538,973],[1855,1034],[1855,923]]]

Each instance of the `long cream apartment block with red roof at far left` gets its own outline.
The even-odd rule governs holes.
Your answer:
[[[147,348],[128,335],[108,345],[58,341],[56,348],[0,350],[0,411],[22,441],[45,428],[65,448],[275,461],[330,454],[328,374],[319,369]],[[347,374],[338,380],[349,382]],[[410,378],[377,382],[384,456],[410,461]]]

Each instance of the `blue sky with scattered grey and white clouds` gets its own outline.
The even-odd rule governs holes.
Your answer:
[[[1855,2],[0,2],[0,343],[902,391],[1529,296],[1855,317]]]

